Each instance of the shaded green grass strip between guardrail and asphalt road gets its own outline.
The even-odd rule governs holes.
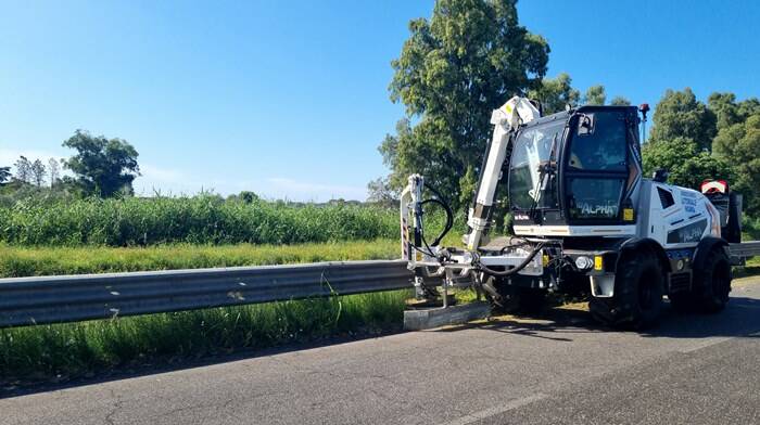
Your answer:
[[[410,291],[0,330],[0,388],[400,331]]]

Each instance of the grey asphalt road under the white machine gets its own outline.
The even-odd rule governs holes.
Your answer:
[[[649,333],[582,311],[0,399],[0,424],[758,424],[760,279]]]

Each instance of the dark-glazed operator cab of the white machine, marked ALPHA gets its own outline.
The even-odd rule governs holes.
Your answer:
[[[522,126],[509,159],[516,233],[572,235],[585,226],[598,235],[626,233],[621,226],[635,232],[638,123],[635,106],[584,106]]]

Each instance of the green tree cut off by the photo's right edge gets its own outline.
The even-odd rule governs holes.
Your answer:
[[[744,123],[720,130],[713,142],[715,155],[732,164],[736,170],[734,190],[744,195],[745,210],[752,217],[760,215],[760,111]]]

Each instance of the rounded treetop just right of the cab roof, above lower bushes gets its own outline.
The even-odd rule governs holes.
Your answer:
[[[715,137],[715,114],[697,101],[692,89],[667,90],[655,108],[649,143],[689,139],[700,150],[710,151]]]

